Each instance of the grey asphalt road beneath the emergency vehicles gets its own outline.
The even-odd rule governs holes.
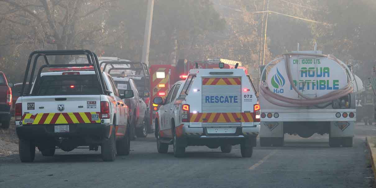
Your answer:
[[[12,155],[0,158],[0,187],[371,187],[365,136],[375,135],[376,127],[355,131],[352,148],[330,148],[328,135],[287,136],[285,147],[256,147],[252,158],[241,158],[238,146],[231,153],[191,146],[186,158],[174,158],[172,146],[159,154],[151,135],[133,141],[130,155],[115,162],[84,149],[38,153],[33,163]]]

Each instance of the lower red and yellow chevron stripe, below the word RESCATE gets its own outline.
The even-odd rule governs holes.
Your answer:
[[[190,122],[203,123],[240,123],[253,122],[252,112],[242,113],[196,113],[190,114]]]

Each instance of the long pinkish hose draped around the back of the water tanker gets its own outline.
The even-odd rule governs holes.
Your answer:
[[[294,91],[297,92],[297,94],[299,96],[303,97],[304,99],[293,99],[293,98],[281,96],[279,94],[276,94],[276,93],[270,91],[270,89],[268,87],[265,87],[262,84],[260,84],[261,94],[264,96],[265,100],[272,103],[273,105],[282,106],[282,107],[309,107],[309,106],[317,106],[317,105],[320,105],[320,104],[323,104],[323,103],[327,103],[327,104],[324,104],[324,106],[328,106],[333,100],[339,99],[339,98],[346,96],[346,95],[353,92],[353,86],[352,86],[352,83],[351,83],[351,79],[350,79],[349,75],[346,74],[347,75],[347,85],[344,88],[338,89],[336,91],[329,92],[329,93],[327,93],[323,96],[320,96],[320,97],[309,98],[309,97],[304,96],[302,94],[302,92],[300,92],[296,88],[296,86],[293,82],[293,79],[292,79],[292,76],[291,76],[291,70],[290,70],[290,63],[289,63],[290,62],[290,55],[312,56],[312,54],[304,54],[304,53],[284,54],[285,67],[286,67],[288,81],[290,82],[290,85],[292,86]],[[326,57],[328,59],[332,59],[333,61],[335,61],[339,65],[341,65],[341,62],[332,55],[314,55],[314,56]],[[264,69],[264,71],[265,71],[265,69]],[[328,103],[328,102],[330,102],[330,103]]]

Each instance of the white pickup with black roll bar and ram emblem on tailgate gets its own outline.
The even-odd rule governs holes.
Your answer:
[[[60,55],[86,55],[89,64],[49,63],[48,56]],[[123,99],[133,97],[132,90],[121,95],[112,77],[100,70],[96,55],[88,50],[36,51],[30,55],[34,63],[40,56],[46,57],[45,65],[34,84],[21,89],[15,104],[21,161],[32,162],[35,147],[44,156],[54,155],[56,148],[68,152],[79,146],[89,150],[101,146],[104,161],[114,161],[116,154],[128,155],[129,114]],[[31,59],[24,83],[29,72],[33,79]],[[50,72],[41,73],[44,68]]]

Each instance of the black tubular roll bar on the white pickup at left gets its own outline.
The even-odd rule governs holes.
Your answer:
[[[47,59],[47,56],[58,56],[58,55],[86,55],[86,58],[88,59],[88,64],[50,64],[48,59]],[[29,76],[31,64],[33,64],[33,66],[32,66],[32,70],[31,70],[31,73],[30,73],[29,83],[33,83],[32,81],[33,81],[33,77],[34,77],[34,73],[35,73],[36,64],[37,64],[38,58],[40,56],[44,57],[45,65],[42,65],[41,68],[39,68],[38,76],[37,76],[36,79],[40,78],[42,69],[46,68],[46,67],[93,66],[94,72],[96,73],[98,81],[101,85],[102,93],[103,94],[109,94],[109,91],[106,88],[106,84],[105,84],[104,79],[103,79],[103,75],[101,74],[97,55],[95,53],[91,52],[90,50],[42,50],[42,51],[34,51],[34,52],[30,53],[30,55],[29,55],[29,59],[27,60],[23,85],[22,85],[22,88],[21,88],[21,96],[24,96],[24,94],[25,94],[24,90],[25,90],[27,77]],[[32,61],[32,60],[34,60],[34,61]],[[30,94],[31,87],[32,87],[32,84],[29,84],[26,95]]]

